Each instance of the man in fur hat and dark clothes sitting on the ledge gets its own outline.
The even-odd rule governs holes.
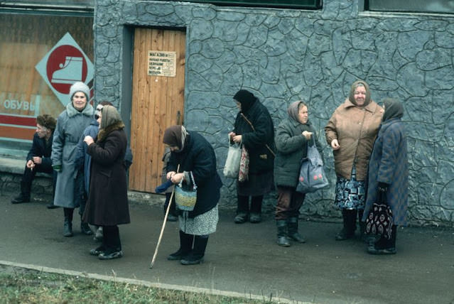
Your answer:
[[[21,194],[13,198],[11,202],[30,202],[31,183],[37,172],[53,175],[53,193],[57,174],[52,168],[50,153],[52,152],[53,131],[57,121],[50,115],[44,114],[36,117],[36,133],[33,136],[33,144],[27,155],[26,168],[21,180]],[[53,202],[47,206],[49,209],[57,208]]]

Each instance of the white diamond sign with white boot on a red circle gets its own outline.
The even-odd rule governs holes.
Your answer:
[[[77,81],[88,84],[94,74],[92,62],[70,33],[66,33],[35,68],[63,106],[70,102],[71,85]]]

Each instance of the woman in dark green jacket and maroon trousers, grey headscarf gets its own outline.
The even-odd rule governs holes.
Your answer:
[[[308,106],[301,101],[293,102],[287,109],[288,118],[279,124],[276,131],[277,154],[274,159],[274,181],[278,192],[276,205],[277,243],[288,247],[288,238],[299,243],[306,240],[298,233],[299,209],[304,193],[296,192],[301,159],[307,157],[308,144],[315,142],[322,154],[315,130],[308,120]],[[314,141],[313,141],[314,140]]]

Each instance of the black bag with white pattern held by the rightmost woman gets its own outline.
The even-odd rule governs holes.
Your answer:
[[[374,202],[366,218],[366,234],[375,234],[391,239],[393,220],[391,208],[385,203]]]

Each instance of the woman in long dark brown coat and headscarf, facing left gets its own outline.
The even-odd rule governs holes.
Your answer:
[[[126,185],[127,139],[124,124],[115,107],[102,107],[97,121],[99,133],[96,142],[85,136],[87,153],[92,158],[90,192],[83,219],[102,226],[102,245],[90,250],[99,259],[117,259],[123,256],[118,226],[129,224],[128,192]]]

